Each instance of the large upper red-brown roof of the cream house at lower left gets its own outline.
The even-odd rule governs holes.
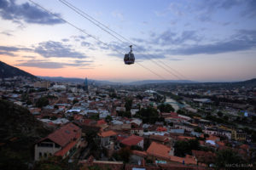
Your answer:
[[[50,133],[44,139],[50,139],[56,144],[60,144],[61,147],[64,147],[73,139],[78,139],[80,137],[81,137],[80,127],[70,122],[63,125],[59,129],[55,130],[55,132]],[[40,141],[43,141],[44,139],[41,139]]]

